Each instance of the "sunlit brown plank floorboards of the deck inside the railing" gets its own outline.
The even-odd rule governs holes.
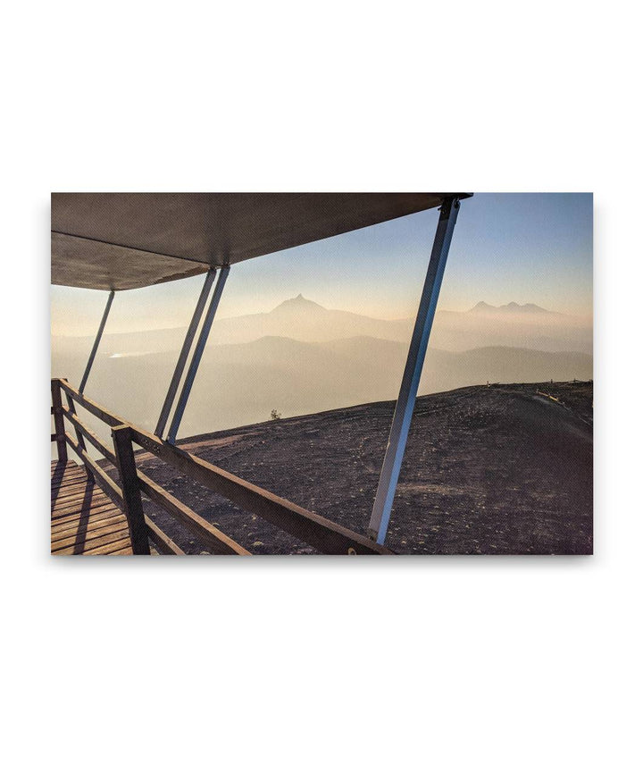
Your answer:
[[[131,555],[121,509],[74,462],[51,464],[52,555]]]

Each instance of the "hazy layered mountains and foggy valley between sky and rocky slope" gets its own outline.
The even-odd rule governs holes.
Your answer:
[[[413,318],[327,310],[301,295],[215,321],[179,437],[397,398]],[[105,334],[86,395],[153,431],[185,328]],[[52,337],[52,376],[78,386],[93,338]],[[591,319],[537,306],[438,311],[420,395],[486,382],[592,377]],[[94,422],[101,438],[109,430]]]

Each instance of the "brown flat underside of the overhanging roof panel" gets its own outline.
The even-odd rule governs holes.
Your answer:
[[[52,194],[52,284],[132,290],[469,194]]]

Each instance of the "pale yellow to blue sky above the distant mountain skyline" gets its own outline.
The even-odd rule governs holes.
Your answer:
[[[324,307],[412,316],[438,211],[407,215],[233,265],[219,317],[269,311],[299,292]],[[118,292],[105,332],[188,324],[204,276]],[[94,334],[106,292],[52,287],[52,331]],[[438,308],[515,300],[592,309],[591,194],[484,194],[463,200]]]

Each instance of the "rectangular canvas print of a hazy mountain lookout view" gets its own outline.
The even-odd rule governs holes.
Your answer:
[[[590,554],[592,216],[52,194],[51,553]]]

